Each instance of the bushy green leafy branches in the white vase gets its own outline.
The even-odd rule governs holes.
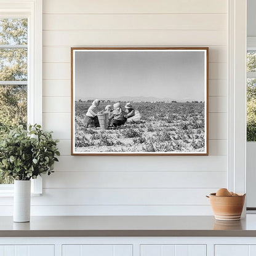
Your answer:
[[[14,180],[30,180],[38,175],[54,172],[54,162],[60,156],[58,140],[53,132],[44,132],[41,126],[23,126],[10,130],[0,138],[0,170]]]

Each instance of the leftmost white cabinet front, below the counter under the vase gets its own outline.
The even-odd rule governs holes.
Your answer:
[[[0,256],[54,256],[53,245],[0,246]]]

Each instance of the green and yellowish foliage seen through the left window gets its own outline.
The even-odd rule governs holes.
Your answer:
[[[0,45],[28,44],[28,20],[0,18]],[[27,81],[27,49],[0,49],[0,81]],[[0,137],[19,125],[27,124],[26,84],[1,84],[0,82]],[[0,172],[0,184],[13,183],[12,178]]]

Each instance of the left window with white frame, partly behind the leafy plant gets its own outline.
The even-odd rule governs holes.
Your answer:
[[[18,124],[42,124],[42,0],[0,0],[0,10],[1,136]],[[8,183],[0,173],[0,193],[12,191]],[[41,179],[32,184],[41,193]]]

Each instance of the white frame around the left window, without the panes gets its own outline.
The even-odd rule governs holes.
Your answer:
[[[28,124],[42,124],[42,0],[0,0],[0,18],[28,18]],[[12,196],[14,185],[0,185]],[[32,179],[31,193],[42,193],[42,178]]]

